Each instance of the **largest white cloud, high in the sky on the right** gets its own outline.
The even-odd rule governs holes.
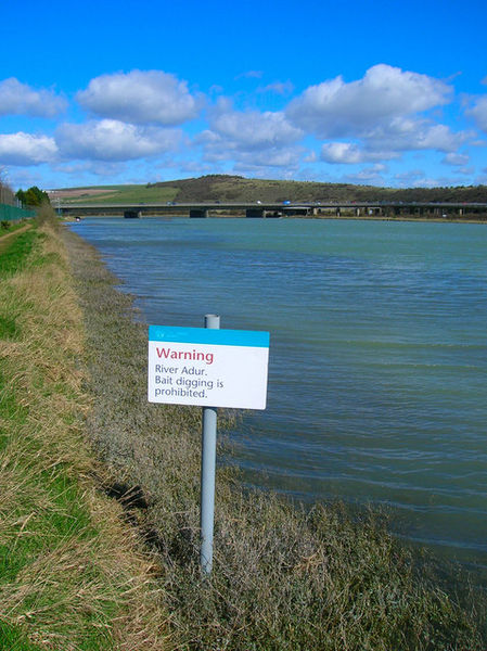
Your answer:
[[[444,81],[386,64],[346,84],[336,77],[311,86],[293,100],[286,114],[298,127],[321,138],[360,137],[399,116],[446,104],[452,88]]]

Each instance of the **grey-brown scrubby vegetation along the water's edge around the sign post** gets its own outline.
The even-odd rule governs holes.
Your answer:
[[[215,571],[197,566],[200,412],[146,401],[146,328],[97,252],[71,232],[86,328],[86,432],[116,476],[126,516],[159,559],[170,649],[480,651],[480,593],[452,591],[452,569],[418,558],[376,518],[295,508],[244,492],[220,468]]]

